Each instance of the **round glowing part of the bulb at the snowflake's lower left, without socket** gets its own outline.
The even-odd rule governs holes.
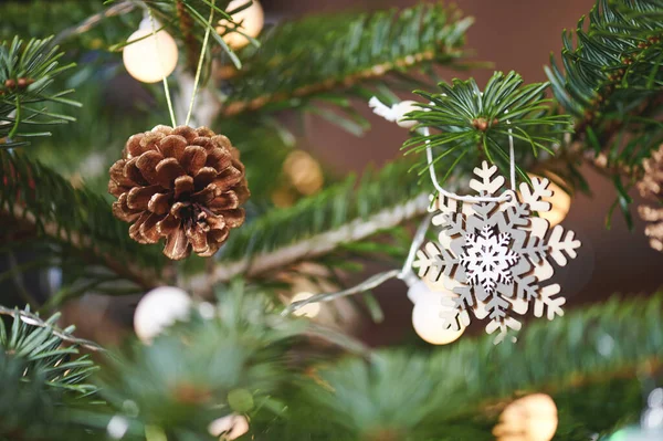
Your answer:
[[[412,309],[412,326],[417,335],[431,345],[449,345],[459,339],[465,332],[464,326],[453,330],[445,329],[443,325],[442,314],[452,308],[453,306],[442,303],[439,293],[420,296]]]

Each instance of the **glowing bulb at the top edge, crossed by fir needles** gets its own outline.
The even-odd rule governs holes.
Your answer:
[[[249,0],[232,0],[228,3],[227,11],[233,11],[246,4]],[[232,25],[225,19],[219,21],[219,28],[217,32],[223,33],[227,30],[228,33],[223,34],[223,41],[228,43],[232,49],[241,49],[249,44],[249,39],[245,36],[256,38],[262,31],[265,24],[265,12],[257,0],[253,0],[253,3],[242,9],[241,11],[233,13],[232,21],[238,23],[238,31],[232,30]]]

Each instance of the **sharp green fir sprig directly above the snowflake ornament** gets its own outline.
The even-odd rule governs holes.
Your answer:
[[[419,154],[420,175],[428,171],[422,155],[427,147],[433,149],[435,168],[443,170],[445,178],[453,176],[461,162],[478,164],[481,159],[497,164],[508,175],[508,137],[513,136],[516,171],[527,180],[522,168],[526,159],[540,153],[555,155],[561,135],[571,129],[569,116],[548,112],[548,84],[523,85],[515,72],[495,72],[483,91],[473,78],[440,83],[439,87],[438,93],[418,91],[430,104],[421,104],[421,111],[409,115],[418,123],[415,129],[433,129],[430,135],[418,132],[403,144],[406,155]]]

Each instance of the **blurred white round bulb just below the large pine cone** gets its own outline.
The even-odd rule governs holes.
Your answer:
[[[168,326],[189,318],[191,298],[185,291],[159,286],[147,293],[134,313],[134,329],[143,343],[149,344]]]

